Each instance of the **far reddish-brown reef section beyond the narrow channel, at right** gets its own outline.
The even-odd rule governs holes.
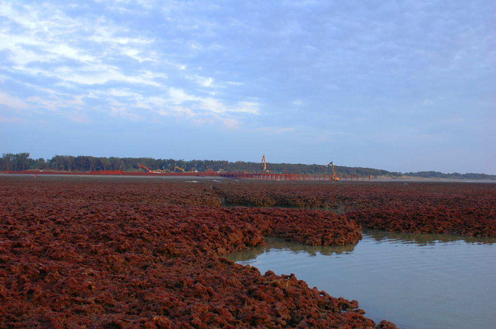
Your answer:
[[[496,184],[251,182],[214,186],[228,205],[328,210],[388,231],[496,236]]]

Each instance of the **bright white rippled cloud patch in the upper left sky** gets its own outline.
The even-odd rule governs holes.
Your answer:
[[[125,8],[121,5],[125,3],[116,2],[110,10],[122,13]],[[140,4],[148,7],[145,3]],[[139,119],[140,115],[129,115],[124,104],[116,101],[125,97],[130,101],[127,107],[149,110],[150,115],[154,112],[161,115],[184,112],[194,116],[198,111],[201,115],[258,111],[254,104],[242,100],[237,106],[226,107],[220,99],[212,97],[216,94],[214,78],[189,72],[186,64],[163,53],[157,45],[160,41],[133,33],[129,26],[119,25],[110,18],[70,17],[50,3],[13,5],[2,2],[0,9],[10,23],[4,26],[1,41],[3,48],[8,50],[8,59],[13,62],[6,68],[4,79],[25,81],[20,75],[45,77],[41,79],[43,82],[35,83],[35,88],[45,93],[30,99],[37,108],[91,111],[95,110],[95,103],[90,100],[97,97],[100,104],[114,104],[107,109],[109,114]],[[174,79],[169,79],[170,76]],[[189,89],[186,94],[176,86],[178,78],[179,81],[195,82],[197,88]],[[52,82],[47,84],[47,81]],[[211,89],[207,91],[208,96],[203,95],[202,88]],[[64,97],[68,95],[67,89],[72,89],[70,100]],[[149,96],[147,89],[163,90],[169,97]],[[90,94],[92,97],[87,98]],[[13,97],[10,99],[8,106],[30,109],[23,102],[13,102]],[[99,110],[104,109],[100,107]],[[80,116],[67,116],[79,122],[90,122]]]

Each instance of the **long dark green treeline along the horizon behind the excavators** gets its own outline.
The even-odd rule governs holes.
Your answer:
[[[0,158],[0,170],[22,171],[22,170],[52,170],[52,171],[94,171],[94,170],[123,170],[140,171],[138,164],[150,168],[151,170],[175,171],[175,167],[183,168],[186,171],[247,171],[261,172],[262,163],[245,161],[221,161],[221,160],[174,160],[174,159],[153,159],[153,158],[117,158],[117,157],[91,157],[91,156],[61,156],[57,155],[52,159],[45,160],[31,159],[28,152],[25,153],[2,153]],[[176,169],[178,171],[180,169]],[[332,167],[321,164],[272,164],[267,163],[267,170],[274,173],[299,173],[299,174],[332,174]],[[457,179],[491,179],[496,180],[496,175],[483,173],[442,173],[437,171],[420,172],[396,172],[382,169],[347,167],[336,165],[337,175],[372,175],[376,176],[412,176],[423,178],[457,178]]]

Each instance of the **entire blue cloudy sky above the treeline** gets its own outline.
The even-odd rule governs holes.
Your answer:
[[[0,152],[496,174],[495,17],[494,0],[1,0]]]

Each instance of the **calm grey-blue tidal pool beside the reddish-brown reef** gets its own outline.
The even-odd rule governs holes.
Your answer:
[[[227,255],[261,274],[295,274],[334,297],[358,300],[365,316],[402,329],[496,328],[496,239],[364,230],[344,247],[266,238]]]

